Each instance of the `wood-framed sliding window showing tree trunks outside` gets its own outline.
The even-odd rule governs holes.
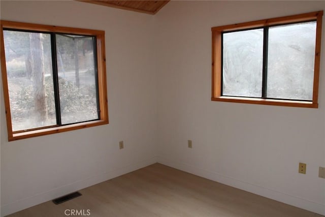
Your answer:
[[[8,140],[108,123],[105,32],[1,21]]]

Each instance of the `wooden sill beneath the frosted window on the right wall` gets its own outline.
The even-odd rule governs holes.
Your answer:
[[[318,103],[307,101],[289,101],[289,100],[271,100],[271,99],[257,99],[246,97],[212,97],[212,101],[231,102],[231,103],[248,103],[259,105],[273,105],[273,106],[289,106],[289,107],[303,107],[303,108],[318,108]]]

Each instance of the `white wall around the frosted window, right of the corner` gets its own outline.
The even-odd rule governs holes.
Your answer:
[[[161,9],[158,162],[325,214],[324,25],[318,109],[210,100],[211,27],[324,9],[324,1],[172,1]]]

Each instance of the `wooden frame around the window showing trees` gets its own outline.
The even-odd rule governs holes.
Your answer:
[[[98,102],[99,102],[99,109],[100,109],[99,119],[80,122],[80,123],[72,123],[63,126],[55,125],[55,126],[49,126],[44,128],[28,129],[26,131],[13,132],[12,122],[11,122],[10,102],[9,102],[9,89],[8,89],[8,80],[7,80],[4,35],[3,35],[4,28],[25,30],[25,31],[37,31],[37,32],[44,32],[44,33],[59,33],[59,34],[85,35],[85,36],[96,37],[95,49],[97,54],[96,59],[97,59],[97,69],[98,69],[96,79],[98,80]],[[89,128],[89,127],[100,126],[100,125],[107,125],[109,123],[107,84],[106,84],[107,80],[106,80],[106,57],[105,57],[105,31],[0,20],[0,34],[1,34],[1,40],[0,40],[1,60],[0,61],[1,61],[6,119],[7,119],[8,141],[78,130],[78,129]]]

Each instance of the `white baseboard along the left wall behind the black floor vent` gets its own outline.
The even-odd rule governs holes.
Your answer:
[[[134,170],[149,166],[157,162],[156,157],[134,163],[129,164],[123,167],[114,168],[110,171],[107,171],[102,174],[98,174],[95,176],[91,176],[82,180],[75,181],[73,183],[69,183],[59,188],[52,189],[47,192],[43,192],[34,196],[30,196],[21,200],[17,200],[10,204],[5,204],[1,207],[1,216],[5,216],[22,209],[26,209],[31,206],[35,206],[40,203],[44,203],[49,200],[53,200],[55,198],[61,197],[66,194],[70,194],[75,191],[79,191],[81,189],[87,188],[91,185],[106,181],[108,179],[115,178],[117,176],[123,175],[128,172],[132,172]]]

